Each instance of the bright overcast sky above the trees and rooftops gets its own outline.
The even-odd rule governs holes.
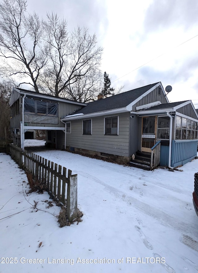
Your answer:
[[[101,70],[124,91],[161,81],[169,101],[198,108],[197,0],[27,0],[45,18],[57,12],[68,29],[85,26],[104,48]],[[195,38],[193,38],[195,37]],[[189,41],[188,41],[189,40]]]

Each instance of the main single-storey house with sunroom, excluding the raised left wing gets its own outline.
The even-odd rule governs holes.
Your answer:
[[[152,153],[170,168],[197,154],[198,114],[192,101],[169,103],[161,82],[90,102],[61,121],[66,126],[65,149],[136,167],[150,169]]]

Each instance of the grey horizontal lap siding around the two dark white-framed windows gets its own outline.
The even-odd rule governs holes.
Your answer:
[[[111,117],[112,115],[108,115]],[[118,135],[104,135],[104,118],[92,118],[92,135],[83,135],[82,120],[71,120],[71,133],[66,136],[68,147],[91,150],[101,153],[129,156],[129,113],[114,114],[119,116]]]

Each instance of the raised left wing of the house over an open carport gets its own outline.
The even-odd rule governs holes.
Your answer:
[[[10,99],[10,126],[13,143],[24,149],[25,138],[34,138],[35,130],[45,130],[47,142],[51,144],[51,147],[64,148],[65,124],[60,118],[85,105],[13,87]]]

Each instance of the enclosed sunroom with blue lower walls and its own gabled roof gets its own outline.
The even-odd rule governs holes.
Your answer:
[[[196,157],[198,115],[192,101],[159,104],[136,113],[141,124],[139,150],[152,153],[159,144],[160,166],[176,168]]]

